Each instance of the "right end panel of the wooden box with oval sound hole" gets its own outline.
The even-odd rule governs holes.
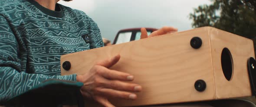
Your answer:
[[[226,31],[212,28],[210,31],[210,46],[213,60],[213,72],[216,89],[216,99],[236,98],[251,95],[247,60],[254,57],[253,41]],[[233,71],[230,81],[223,73],[225,66],[221,63],[222,51],[227,48],[232,56]],[[226,56],[227,57],[227,56]],[[225,59],[225,57],[223,57]],[[223,60],[224,62],[225,60]],[[225,72],[226,70],[224,70]]]

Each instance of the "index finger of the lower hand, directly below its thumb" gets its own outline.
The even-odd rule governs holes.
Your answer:
[[[97,72],[100,76],[103,76],[106,79],[112,79],[112,80],[117,79],[117,80],[123,80],[123,81],[132,81],[134,79],[134,76],[131,76],[128,73],[111,70],[103,66],[98,68]]]

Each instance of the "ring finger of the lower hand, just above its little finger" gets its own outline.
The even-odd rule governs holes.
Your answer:
[[[125,91],[113,90],[109,88],[100,88],[99,92],[101,92],[102,95],[112,98],[122,98],[127,100],[135,100],[137,98],[136,94]]]

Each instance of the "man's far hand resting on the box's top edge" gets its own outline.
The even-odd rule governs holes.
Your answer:
[[[152,32],[150,35],[148,35],[146,28],[141,28],[141,39],[164,35],[164,34],[168,34],[168,33],[174,33],[177,31],[178,31],[177,28],[165,26],[163,28],[160,28],[157,31]]]

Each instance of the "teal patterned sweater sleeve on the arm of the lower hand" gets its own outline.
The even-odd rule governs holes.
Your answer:
[[[46,76],[23,71],[20,44],[7,18],[0,14],[0,102],[38,86],[49,79],[76,82],[76,74],[69,76]]]

